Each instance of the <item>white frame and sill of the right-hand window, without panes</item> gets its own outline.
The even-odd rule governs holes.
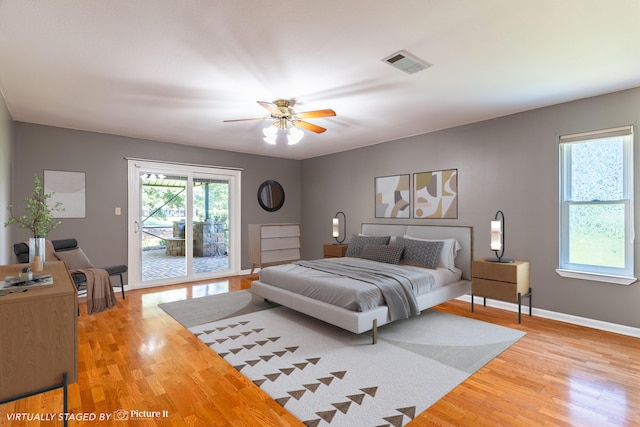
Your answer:
[[[568,261],[568,209],[571,205],[579,204],[573,200],[567,200],[565,194],[569,191],[567,176],[570,167],[570,157],[567,157],[565,144],[589,141],[595,139],[604,139],[611,137],[627,137],[624,141],[624,192],[623,199],[618,201],[593,201],[593,204],[623,204],[625,206],[625,266],[621,269],[606,268],[599,269],[580,269],[580,265],[571,264]],[[620,126],[616,128],[603,129],[590,132],[581,132],[570,135],[561,135],[559,137],[559,203],[558,203],[558,264],[556,269],[561,277],[592,280],[599,282],[614,283],[619,285],[630,285],[637,279],[635,276],[635,257],[634,257],[634,134],[633,126]],[[608,271],[607,271],[608,270]],[[618,270],[621,274],[616,272]]]

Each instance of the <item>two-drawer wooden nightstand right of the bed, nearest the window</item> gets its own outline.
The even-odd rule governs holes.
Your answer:
[[[509,263],[491,262],[484,259],[473,261],[471,270],[471,311],[473,297],[518,303],[518,323],[521,322],[522,298],[529,298],[531,316],[531,287],[529,285],[529,261]]]

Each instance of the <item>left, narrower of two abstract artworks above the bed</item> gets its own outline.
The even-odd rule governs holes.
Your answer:
[[[375,179],[376,218],[411,218],[409,183],[409,174]]]

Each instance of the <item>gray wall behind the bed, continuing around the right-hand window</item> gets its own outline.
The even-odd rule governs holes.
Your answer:
[[[506,216],[505,256],[531,262],[535,307],[640,327],[640,284],[565,279],[555,272],[558,136],[636,124],[639,116],[640,89],[633,89],[304,160],[303,254],[307,258],[322,255],[322,244],[333,241],[331,218],[344,211],[347,242],[359,232],[362,222],[471,225],[474,255],[486,257],[493,254],[489,222],[502,210]],[[638,152],[636,148],[636,159]],[[458,169],[458,219],[374,218],[375,177],[450,168]],[[636,194],[640,189],[637,176]],[[640,224],[638,213],[636,200]]]

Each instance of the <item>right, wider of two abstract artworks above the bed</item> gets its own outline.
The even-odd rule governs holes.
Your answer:
[[[414,218],[458,218],[458,169],[413,174]]]

